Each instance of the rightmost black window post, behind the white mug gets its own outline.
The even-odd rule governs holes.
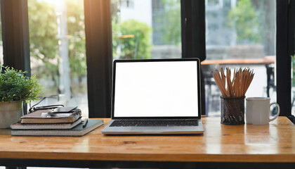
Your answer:
[[[277,0],[277,104],[280,115],[291,115],[291,55],[294,54],[295,0]],[[294,121],[295,122],[295,121]]]

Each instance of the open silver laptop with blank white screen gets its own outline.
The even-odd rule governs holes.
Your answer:
[[[198,58],[115,60],[103,134],[202,134]]]

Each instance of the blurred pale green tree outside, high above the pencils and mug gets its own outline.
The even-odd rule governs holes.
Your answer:
[[[262,42],[258,13],[251,0],[237,1],[237,6],[228,13],[228,25],[237,31],[237,42]]]

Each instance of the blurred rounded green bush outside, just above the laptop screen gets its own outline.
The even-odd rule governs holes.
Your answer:
[[[126,20],[122,23],[112,22],[112,44],[114,58],[150,58],[150,32],[145,23]]]

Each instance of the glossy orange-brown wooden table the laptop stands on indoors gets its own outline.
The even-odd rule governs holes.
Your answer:
[[[288,118],[279,117],[270,125],[221,125],[220,118],[202,122],[204,134],[186,136],[104,136],[100,127],[84,137],[13,137],[10,130],[0,130],[0,165],[295,163],[295,125]]]

